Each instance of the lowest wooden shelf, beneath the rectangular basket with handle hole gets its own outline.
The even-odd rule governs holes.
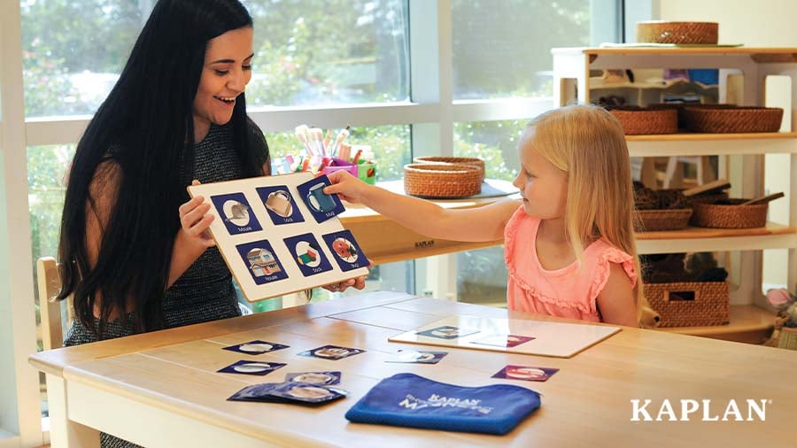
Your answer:
[[[770,336],[775,314],[756,305],[731,305],[730,321],[728,325],[659,328],[659,331],[761,344]]]

